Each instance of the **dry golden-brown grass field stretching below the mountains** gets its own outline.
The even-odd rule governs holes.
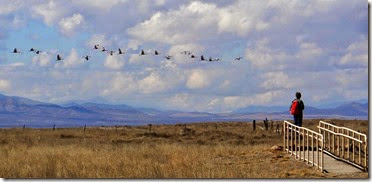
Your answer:
[[[368,121],[328,121],[368,133]],[[274,122],[274,128],[276,123]],[[305,120],[316,130],[318,120]],[[258,122],[263,126],[262,122]],[[57,126],[58,127],[58,126]],[[316,130],[317,131],[317,130]],[[1,129],[2,178],[367,178],[320,173],[251,122]]]

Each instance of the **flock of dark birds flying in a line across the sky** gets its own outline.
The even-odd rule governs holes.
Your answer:
[[[105,47],[103,47],[103,46],[102,46],[102,48],[101,48],[101,46],[100,46],[99,44],[94,45],[93,49],[96,50],[96,51],[106,52],[106,53],[108,53],[108,54],[111,55],[111,56],[113,56],[114,54],[117,54],[117,55],[124,55],[124,54],[125,54],[125,52],[122,51],[120,48],[118,48],[118,50],[117,50],[117,52],[116,52],[116,51],[112,51],[112,50],[107,50],[107,49],[106,49]],[[40,54],[42,51],[41,51],[41,50],[34,49],[34,48],[31,48],[31,49],[29,50],[29,52],[34,52],[35,54]],[[19,53],[21,53],[21,51],[20,51],[19,49],[17,49],[17,48],[14,48],[14,50],[13,50],[12,53],[14,53],[14,54],[19,54]],[[141,52],[139,53],[139,56],[145,56],[145,55],[149,55],[149,54],[151,54],[151,53],[145,52],[145,51],[142,49]],[[199,58],[199,56],[196,56],[195,54],[193,54],[193,53],[190,52],[190,51],[182,51],[182,52],[180,52],[180,54],[187,55],[187,56],[189,56],[191,59],[198,59],[198,58]],[[159,55],[161,55],[161,53],[160,53],[159,51],[155,50],[154,53],[153,53],[153,55],[155,55],[155,56],[159,56]],[[83,58],[84,58],[86,61],[89,61],[90,57],[91,57],[91,56],[89,56],[89,55],[83,56]],[[171,60],[172,57],[173,57],[173,56],[166,55],[164,58],[167,59],[167,60]],[[239,56],[239,57],[236,57],[234,60],[237,60],[237,61],[238,61],[238,60],[240,60],[240,59],[242,59],[242,58],[243,58],[243,57]],[[56,56],[56,61],[62,61],[62,60],[63,60],[63,57],[62,57],[60,54],[57,54],[57,56]],[[222,61],[221,58],[212,58],[212,57],[209,57],[208,59],[206,59],[206,58],[204,57],[204,55],[201,55],[199,60],[200,60],[200,61],[209,61],[209,62],[213,62],[213,61]]]

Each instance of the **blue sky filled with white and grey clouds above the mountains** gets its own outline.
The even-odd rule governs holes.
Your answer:
[[[290,105],[296,91],[305,105],[368,99],[364,0],[0,5],[1,94],[214,113]],[[95,44],[125,54],[111,56],[94,50]],[[29,52],[31,47],[41,54]],[[11,53],[14,48],[21,53]],[[141,50],[148,55],[139,56]],[[198,58],[180,54],[185,50]],[[222,61],[201,62],[200,55]]]

